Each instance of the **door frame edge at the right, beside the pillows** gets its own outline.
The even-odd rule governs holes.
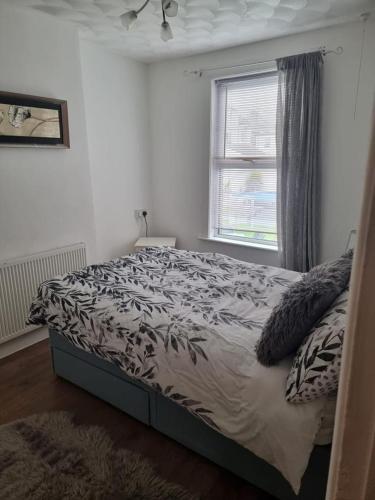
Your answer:
[[[375,112],[326,500],[375,499]]]

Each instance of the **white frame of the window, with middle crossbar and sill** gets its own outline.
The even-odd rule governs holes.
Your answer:
[[[263,75],[267,73],[273,73],[276,72],[276,64],[274,62],[271,62],[268,64],[266,67],[264,64],[260,68],[255,68],[254,71],[251,72],[246,72],[246,73],[241,73],[241,74],[225,74],[225,75],[220,75],[218,77],[215,77],[211,80],[211,113],[210,113],[210,161],[209,161],[209,200],[208,200],[208,240],[212,241],[217,241],[220,243],[227,243],[231,245],[238,245],[238,246],[245,246],[245,247],[253,247],[253,248],[260,248],[264,250],[270,250],[274,252],[278,252],[278,243],[276,245],[268,245],[262,242],[255,242],[251,241],[248,238],[229,238],[229,237],[221,237],[220,235],[217,235],[215,233],[215,222],[217,218],[217,194],[216,194],[216,188],[217,188],[217,182],[216,178],[214,175],[214,171],[216,168],[215,164],[215,127],[216,127],[216,118],[217,118],[217,106],[216,106],[216,82],[217,80],[223,80],[225,78],[240,78],[240,77],[249,77],[249,76],[257,76],[257,75]],[[238,168],[243,167],[248,169],[248,164],[245,165],[245,163],[250,163],[254,160],[253,158],[248,158],[247,161],[246,159],[234,159],[230,160],[231,164],[233,165],[234,163],[237,164]],[[262,158],[260,161],[266,160],[265,158]],[[272,160],[274,157],[272,157]],[[225,160],[223,160],[225,161]],[[269,161],[269,159],[268,159]],[[260,166],[255,166],[254,168],[260,168]],[[262,166],[262,168],[267,168]],[[269,167],[274,169],[275,164],[273,164],[272,167]],[[205,238],[203,238],[205,239]]]

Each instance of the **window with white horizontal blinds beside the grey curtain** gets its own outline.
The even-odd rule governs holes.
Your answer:
[[[277,248],[276,72],[213,84],[211,236]]]

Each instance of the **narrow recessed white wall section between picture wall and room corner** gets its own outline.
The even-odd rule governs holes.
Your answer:
[[[150,209],[148,68],[81,43],[98,259],[133,250]]]

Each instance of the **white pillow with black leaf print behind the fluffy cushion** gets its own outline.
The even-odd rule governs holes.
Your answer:
[[[306,403],[337,391],[349,292],[343,292],[306,337],[293,361],[286,399]]]

